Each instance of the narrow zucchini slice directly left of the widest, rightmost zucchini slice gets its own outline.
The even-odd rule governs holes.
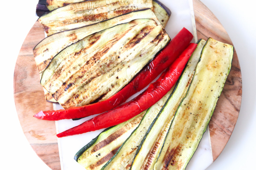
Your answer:
[[[205,41],[198,43],[196,50],[190,56],[188,64],[184,69],[180,79],[177,81],[177,86],[173,91],[172,96],[163,108],[155,123],[148,128],[148,133],[140,143],[135,154],[131,169],[153,169],[157,157],[162,148],[165,136],[172,123],[175,111],[180,105],[181,100],[185,97],[189,84],[193,79],[196,65],[199,62],[200,54]]]

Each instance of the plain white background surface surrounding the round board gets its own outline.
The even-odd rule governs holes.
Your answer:
[[[227,30],[242,72],[242,105],[231,138],[207,170],[255,169],[256,159],[256,12],[249,0],[201,0]],[[22,43],[34,25],[37,0],[1,1],[0,10],[0,169],[50,170],[23,134],[13,99],[13,74]],[[204,160],[202,160],[204,161]]]

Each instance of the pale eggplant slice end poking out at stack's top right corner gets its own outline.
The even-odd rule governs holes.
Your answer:
[[[169,8],[164,6],[161,2],[158,0],[153,0],[153,8],[154,13],[157,17],[157,19],[160,21],[163,27],[167,25],[167,22],[171,16],[171,11]]]

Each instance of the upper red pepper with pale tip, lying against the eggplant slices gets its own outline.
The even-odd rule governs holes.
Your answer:
[[[66,110],[40,111],[34,117],[44,120],[73,119],[111,110],[152,82],[157,75],[164,71],[185,50],[192,38],[193,35],[186,28],[181,29],[150,64],[112,97],[94,104],[72,107]]]

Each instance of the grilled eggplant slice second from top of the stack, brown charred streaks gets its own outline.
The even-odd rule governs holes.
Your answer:
[[[98,23],[131,11],[151,8],[152,0],[92,0],[71,3],[41,16],[38,21],[49,36],[64,30]]]

